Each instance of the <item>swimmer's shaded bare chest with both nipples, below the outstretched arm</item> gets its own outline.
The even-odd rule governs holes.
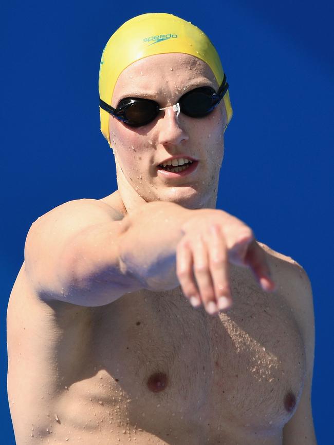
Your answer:
[[[179,288],[100,308],[92,364],[109,376],[109,401],[126,400],[127,415],[141,424],[282,428],[303,385],[299,328],[282,296],[237,276],[231,284],[233,308],[214,317],[192,308]]]

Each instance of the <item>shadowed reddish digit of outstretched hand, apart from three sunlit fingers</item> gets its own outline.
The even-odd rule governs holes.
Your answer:
[[[245,256],[245,264],[251,268],[255,279],[262,286],[264,291],[273,292],[275,290],[276,285],[271,279],[270,268],[266,260],[265,252],[255,240],[253,240],[248,247]]]

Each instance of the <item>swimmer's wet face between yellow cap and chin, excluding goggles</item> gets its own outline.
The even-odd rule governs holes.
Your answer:
[[[112,106],[121,99],[153,99],[167,107],[150,124],[130,127],[109,118],[109,136],[118,169],[132,192],[146,202],[172,201],[188,208],[214,207],[219,170],[224,157],[224,101],[205,118],[177,117],[172,106],[180,96],[199,86],[218,90],[210,67],[188,54],[157,54],[128,66],[116,83]],[[193,164],[179,173],[159,165],[183,158]]]

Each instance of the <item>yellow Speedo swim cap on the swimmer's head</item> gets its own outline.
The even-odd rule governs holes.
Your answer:
[[[154,54],[190,54],[206,62],[220,86],[224,71],[217,51],[208,36],[197,26],[172,14],[142,14],[125,22],[109,38],[101,57],[99,71],[100,99],[111,105],[114,88],[121,72]],[[229,91],[224,95],[227,123],[232,118]],[[100,108],[101,131],[110,145],[109,114]]]

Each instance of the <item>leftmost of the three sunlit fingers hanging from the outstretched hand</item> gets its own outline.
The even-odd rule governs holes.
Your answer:
[[[200,306],[200,295],[193,273],[193,254],[188,241],[181,241],[176,247],[176,275],[184,296],[194,307]]]

